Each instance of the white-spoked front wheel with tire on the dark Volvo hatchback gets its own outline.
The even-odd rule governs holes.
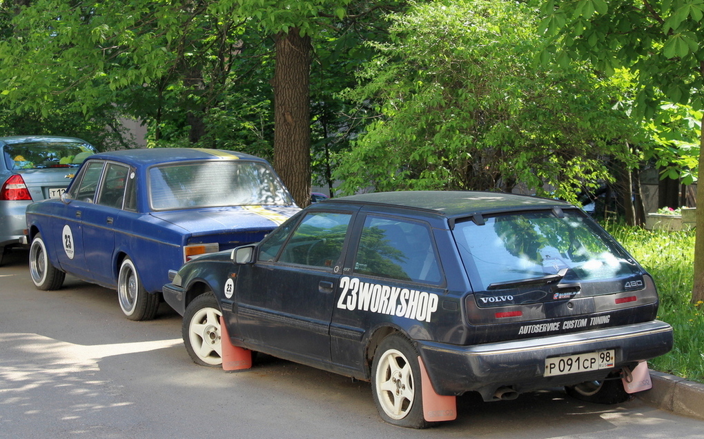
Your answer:
[[[221,315],[218,300],[210,291],[193,299],[186,308],[181,334],[188,355],[196,365],[222,366]]]

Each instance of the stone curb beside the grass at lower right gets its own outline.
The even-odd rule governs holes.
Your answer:
[[[704,421],[704,384],[650,369],[653,388],[636,398],[658,409]]]

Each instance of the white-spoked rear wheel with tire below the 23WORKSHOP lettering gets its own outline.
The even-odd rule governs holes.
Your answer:
[[[426,428],[418,351],[401,334],[379,344],[372,362],[372,393],[384,421],[407,428]]]

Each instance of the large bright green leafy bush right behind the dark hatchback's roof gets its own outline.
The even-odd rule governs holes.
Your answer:
[[[434,2],[391,20],[391,42],[344,95],[371,122],[340,158],[343,192],[521,182],[572,199],[608,178],[604,155],[628,159],[637,127],[611,109],[614,84],[582,65],[532,67],[541,39],[528,6]]]

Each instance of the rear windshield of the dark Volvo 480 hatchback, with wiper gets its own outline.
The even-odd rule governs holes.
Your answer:
[[[559,217],[551,211],[485,217],[483,225],[457,223],[453,233],[475,291],[641,273],[630,256],[579,211]]]

